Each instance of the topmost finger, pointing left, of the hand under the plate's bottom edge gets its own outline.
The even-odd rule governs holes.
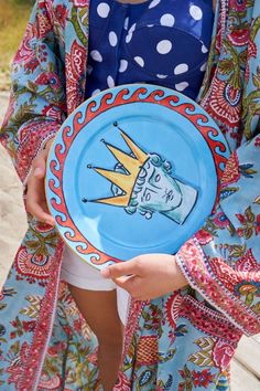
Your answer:
[[[100,273],[105,278],[118,278],[131,274],[138,275],[140,273],[140,264],[138,258],[133,258],[131,261],[120,262],[116,265],[108,266]]]

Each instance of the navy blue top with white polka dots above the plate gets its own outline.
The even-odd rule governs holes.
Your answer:
[[[86,98],[115,85],[150,83],[195,99],[213,19],[212,0],[91,0]]]

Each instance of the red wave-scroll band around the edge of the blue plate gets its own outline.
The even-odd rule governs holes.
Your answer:
[[[62,128],[61,131],[63,145],[56,144],[56,159],[52,159],[50,162],[51,172],[56,178],[57,184],[55,184],[54,179],[51,179],[47,183],[47,187],[59,200],[58,202],[56,202],[55,198],[52,198],[51,204],[57,213],[62,213],[64,216],[62,218],[61,215],[56,215],[56,222],[59,226],[69,230],[64,234],[68,242],[71,241],[79,243],[76,246],[76,251],[79,255],[91,254],[90,262],[93,263],[93,265],[105,265],[108,262],[120,262],[120,260],[111,257],[96,249],[82,234],[82,232],[79,232],[79,230],[75,225],[72,216],[69,215],[69,212],[67,211],[64,198],[63,169],[69,147],[77,137],[78,133],[101,113],[126,104],[151,103],[159,104],[181,114],[183,117],[189,120],[195,126],[195,128],[202,134],[213,154],[217,177],[220,178],[223,175],[223,168],[226,163],[227,158],[224,155],[220,155],[219,152],[226,152],[227,148],[219,139],[214,139],[214,137],[217,137],[219,133],[217,128],[214,128],[208,125],[208,117],[205,114],[195,113],[197,108],[192,102],[182,103],[177,105],[180,102],[180,97],[177,96],[177,94],[174,94],[174,92],[172,92],[171,95],[167,94],[167,96],[165,96],[165,92],[163,89],[156,88],[149,95],[147,94],[148,89],[145,87],[138,87],[137,91],[134,91],[132,94],[130,94],[130,89],[128,87],[124,87],[120,89],[115,96],[111,92],[106,93],[101,97],[100,103],[97,103],[96,101],[90,101],[85,109],[84,115],[80,112],[76,112],[74,114],[72,127],[67,125]]]

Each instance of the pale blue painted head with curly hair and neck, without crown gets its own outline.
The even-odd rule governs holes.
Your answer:
[[[126,172],[122,166],[117,166],[117,170]],[[171,170],[169,161],[156,154],[150,155],[139,172],[126,212],[134,214],[139,211],[145,219],[158,212],[183,224],[196,203],[198,192],[185,181],[174,178]],[[111,190],[117,197],[123,193],[115,184]]]

